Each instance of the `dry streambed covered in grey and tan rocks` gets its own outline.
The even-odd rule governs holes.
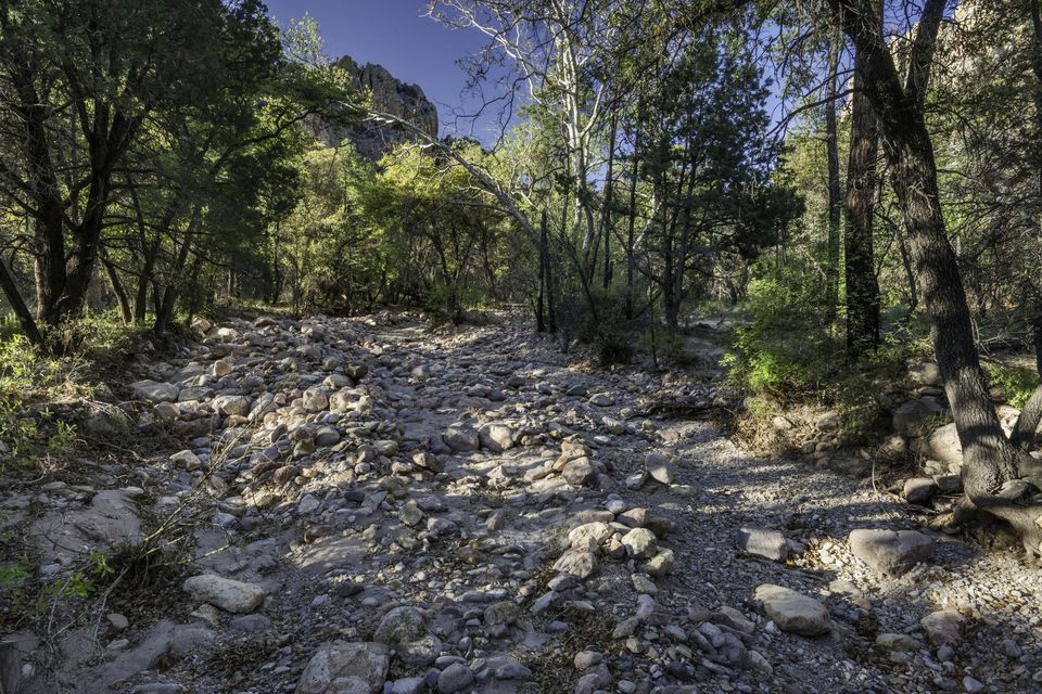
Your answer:
[[[0,692],[1042,691],[1038,571],[646,415],[712,378],[510,324],[196,327],[88,422],[183,449],[0,497],[50,580],[164,534],[185,561],[8,634]]]

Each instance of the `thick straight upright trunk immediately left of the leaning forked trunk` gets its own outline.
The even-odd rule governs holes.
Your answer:
[[[857,361],[879,345],[879,285],[873,252],[878,136],[864,93],[864,56],[854,59],[850,159],[847,168],[847,354]]]

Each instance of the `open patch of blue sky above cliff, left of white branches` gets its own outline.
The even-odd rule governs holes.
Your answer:
[[[466,73],[456,65],[483,46],[476,31],[453,30],[425,13],[423,0],[267,0],[269,13],[284,25],[305,13],[322,30],[333,57],[351,55],[379,63],[405,82],[419,85],[437,106],[442,133],[456,131],[453,108],[466,101]],[[468,134],[463,132],[461,134]],[[476,132],[483,136],[486,133]]]

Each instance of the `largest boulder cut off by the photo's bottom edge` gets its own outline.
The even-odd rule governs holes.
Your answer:
[[[332,643],[307,661],[296,694],[378,694],[390,665],[382,643]]]

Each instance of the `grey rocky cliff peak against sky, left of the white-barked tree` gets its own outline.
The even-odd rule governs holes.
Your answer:
[[[427,100],[419,86],[398,80],[382,65],[359,65],[346,55],[336,65],[351,76],[356,89],[372,93],[374,111],[406,119],[431,137],[437,137],[437,108]],[[318,140],[329,145],[351,140],[363,155],[372,159],[380,158],[396,144],[415,140],[415,136],[405,128],[371,123],[344,128],[319,121],[312,124],[312,131]]]

